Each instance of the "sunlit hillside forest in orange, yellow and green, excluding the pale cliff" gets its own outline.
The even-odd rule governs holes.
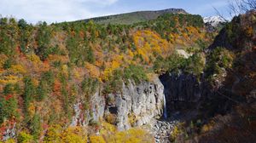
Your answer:
[[[150,81],[154,74],[181,68],[200,75],[204,55],[195,53],[214,36],[201,16],[191,14],[108,26],[92,20],[33,26],[2,18],[0,137],[6,140],[6,129],[15,129],[17,136],[7,136],[19,142],[87,140],[83,128],[67,128],[78,100],[84,100],[82,110],[90,111],[90,96],[99,88],[102,96],[117,93],[122,82]],[[185,59],[177,49],[194,55]]]

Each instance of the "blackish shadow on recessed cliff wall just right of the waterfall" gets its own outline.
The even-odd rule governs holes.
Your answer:
[[[160,76],[166,96],[167,116],[175,120],[189,120],[198,116],[202,94],[207,94],[198,79],[190,74],[169,73]]]

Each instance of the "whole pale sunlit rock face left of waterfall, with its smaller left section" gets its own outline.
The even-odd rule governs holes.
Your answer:
[[[130,129],[131,126],[149,123],[154,117],[161,117],[163,100],[164,86],[159,78],[138,85],[130,81],[128,84],[123,83],[117,94],[105,97],[102,97],[101,92],[94,94],[90,100],[90,112],[83,112],[80,107],[83,101],[79,101],[73,107],[75,114],[71,125],[86,125],[91,120],[99,121],[111,114],[119,130]]]

